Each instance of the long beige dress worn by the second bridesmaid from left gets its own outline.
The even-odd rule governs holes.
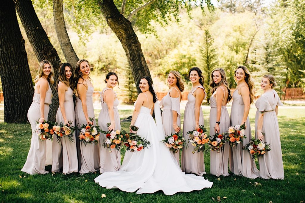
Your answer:
[[[70,87],[65,92],[64,108],[66,119],[72,121],[70,127],[75,126],[73,90]],[[60,107],[58,107],[56,113],[56,122],[58,125],[60,122],[64,123]],[[75,133],[73,134],[72,141],[67,137],[62,137],[59,142],[56,140],[56,135],[54,135],[52,145],[52,172],[59,172],[60,168],[63,168],[63,174],[78,172]]]

